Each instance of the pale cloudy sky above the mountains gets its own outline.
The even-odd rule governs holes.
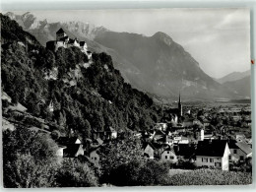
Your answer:
[[[28,10],[30,11],[30,10]],[[250,69],[249,9],[31,11],[48,22],[81,21],[114,32],[167,33],[211,77]],[[17,14],[25,13],[15,12]]]

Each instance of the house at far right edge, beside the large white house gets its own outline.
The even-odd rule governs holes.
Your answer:
[[[230,149],[229,160],[243,161],[246,158],[252,157],[252,149],[248,144],[235,140],[229,140],[227,144]]]

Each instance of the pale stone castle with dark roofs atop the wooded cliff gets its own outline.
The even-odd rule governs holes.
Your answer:
[[[79,41],[77,38],[70,38],[62,29],[56,32],[56,40],[46,42],[46,48],[54,52],[57,51],[59,47],[69,48],[72,46],[79,47],[82,52],[87,54],[88,59],[91,59],[92,52],[88,50],[87,43],[85,41]]]

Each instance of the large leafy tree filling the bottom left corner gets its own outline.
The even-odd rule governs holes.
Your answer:
[[[3,132],[5,187],[48,187],[52,185],[56,144],[45,134],[17,128]]]

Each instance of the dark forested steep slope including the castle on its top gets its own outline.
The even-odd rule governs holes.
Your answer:
[[[118,132],[150,129],[161,120],[160,106],[124,83],[109,55],[94,53],[90,59],[87,44],[70,39],[62,30],[44,48],[15,21],[0,16],[1,89],[11,98],[2,99],[7,120],[28,127],[47,124],[49,131],[62,134],[72,129],[82,138],[109,127]],[[45,78],[53,71],[55,78]],[[44,121],[36,123],[35,118],[15,115],[10,106],[18,103],[26,107],[25,113]]]

